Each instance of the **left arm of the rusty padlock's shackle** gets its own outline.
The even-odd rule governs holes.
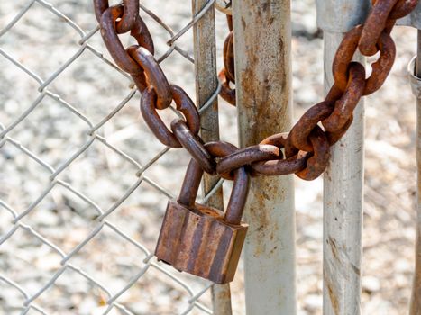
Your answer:
[[[178,202],[182,205],[192,208],[195,206],[197,192],[199,190],[200,182],[203,176],[203,169],[199,166],[197,161],[192,158],[188,163],[188,170],[186,177],[184,177],[181,192],[178,196]]]

